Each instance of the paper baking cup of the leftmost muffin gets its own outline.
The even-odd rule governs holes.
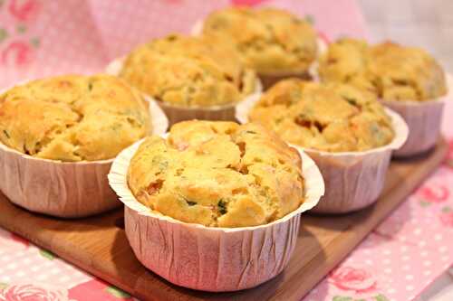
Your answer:
[[[153,133],[165,133],[168,121],[150,101]],[[119,207],[107,179],[113,159],[61,162],[24,155],[0,143],[0,190],[32,212],[76,218]]]

